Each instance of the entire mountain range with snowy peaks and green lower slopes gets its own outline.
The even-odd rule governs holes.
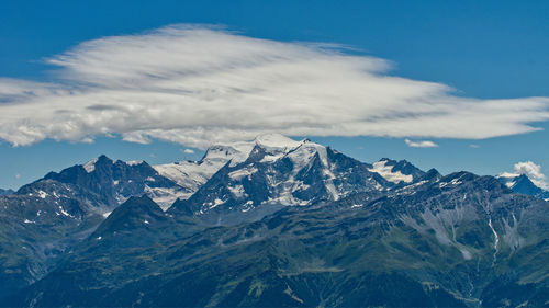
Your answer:
[[[101,156],[0,196],[0,306],[544,307],[545,198],[273,134]]]

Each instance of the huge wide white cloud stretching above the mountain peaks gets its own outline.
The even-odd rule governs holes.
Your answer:
[[[388,76],[386,61],[334,45],[258,39],[201,26],[85,42],[48,60],[48,83],[0,79],[0,139],[98,135],[203,148],[289,136],[489,138],[537,130],[548,98],[478,100]]]

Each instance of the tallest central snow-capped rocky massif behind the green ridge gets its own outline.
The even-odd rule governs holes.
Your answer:
[[[415,183],[425,174],[407,161],[383,159],[372,166],[307,139],[295,141],[274,134],[239,144],[238,150],[214,147],[199,163],[210,161],[211,151],[225,164],[190,198],[175,203],[172,212],[200,216],[261,208],[270,213],[280,206],[304,206],[357,192],[390,190]]]

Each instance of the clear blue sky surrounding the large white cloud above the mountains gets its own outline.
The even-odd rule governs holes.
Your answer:
[[[547,1],[528,1],[527,5],[516,1],[112,2],[2,1],[0,78],[57,82],[58,69],[45,59],[82,42],[139,34],[170,24],[209,24],[269,42],[344,45],[349,47],[346,54],[390,61],[389,76],[451,87],[456,89],[451,99],[549,96]],[[63,82],[64,87],[74,85]],[[40,114],[41,110],[34,112]],[[490,111],[486,118],[489,115]],[[525,113],[528,115],[531,113]],[[432,140],[436,148],[408,147],[400,133],[389,137],[309,137],[365,161],[405,158],[421,168],[434,167],[445,173],[470,170],[495,174],[512,170],[518,161],[531,160],[547,173],[549,125],[544,121],[529,125],[545,130],[482,139],[408,137],[413,141]],[[92,144],[46,137],[13,147],[7,140],[0,144],[0,187],[16,189],[47,171],[82,163],[100,153],[152,163],[179,160],[187,146],[197,144],[153,139],[142,145],[98,136]],[[200,150],[184,156],[198,159]]]

